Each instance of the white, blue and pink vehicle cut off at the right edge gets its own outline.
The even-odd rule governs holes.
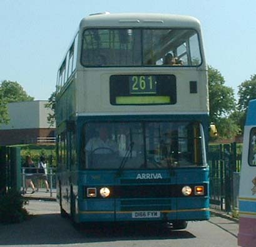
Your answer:
[[[238,246],[256,246],[256,100],[248,105],[239,186]]]

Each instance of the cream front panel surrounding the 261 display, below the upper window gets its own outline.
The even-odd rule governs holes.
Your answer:
[[[202,72],[195,69],[118,69],[118,74],[174,74],[177,77],[177,104],[175,105],[111,105],[110,104],[110,75],[116,74],[116,69],[91,69],[79,73],[81,79],[77,81],[76,97],[78,99],[78,114],[115,112],[151,112],[152,114],[171,114],[171,112],[208,112],[206,79]],[[190,94],[190,80],[197,80],[198,94]],[[81,83],[79,83],[81,82]],[[84,83],[86,82],[86,83]],[[96,83],[100,82],[100,83]]]

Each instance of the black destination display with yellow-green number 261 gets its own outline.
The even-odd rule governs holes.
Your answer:
[[[176,104],[175,75],[111,75],[112,105]]]

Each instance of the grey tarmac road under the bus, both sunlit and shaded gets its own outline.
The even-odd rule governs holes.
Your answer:
[[[237,246],[238,224],[220,217],[190,222],[182,231],[146,224],[76,230],[68,218],[61,218],[55,201],[30,200],[26,208],[33,215],[29,220],[0,225],[0,246]]]

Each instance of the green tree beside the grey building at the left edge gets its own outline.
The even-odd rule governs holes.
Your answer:
[[[29,96],[18,82],[3,80],[0,84],[0,124],[9,122],[8,103],[31,100],[34,97]]]

